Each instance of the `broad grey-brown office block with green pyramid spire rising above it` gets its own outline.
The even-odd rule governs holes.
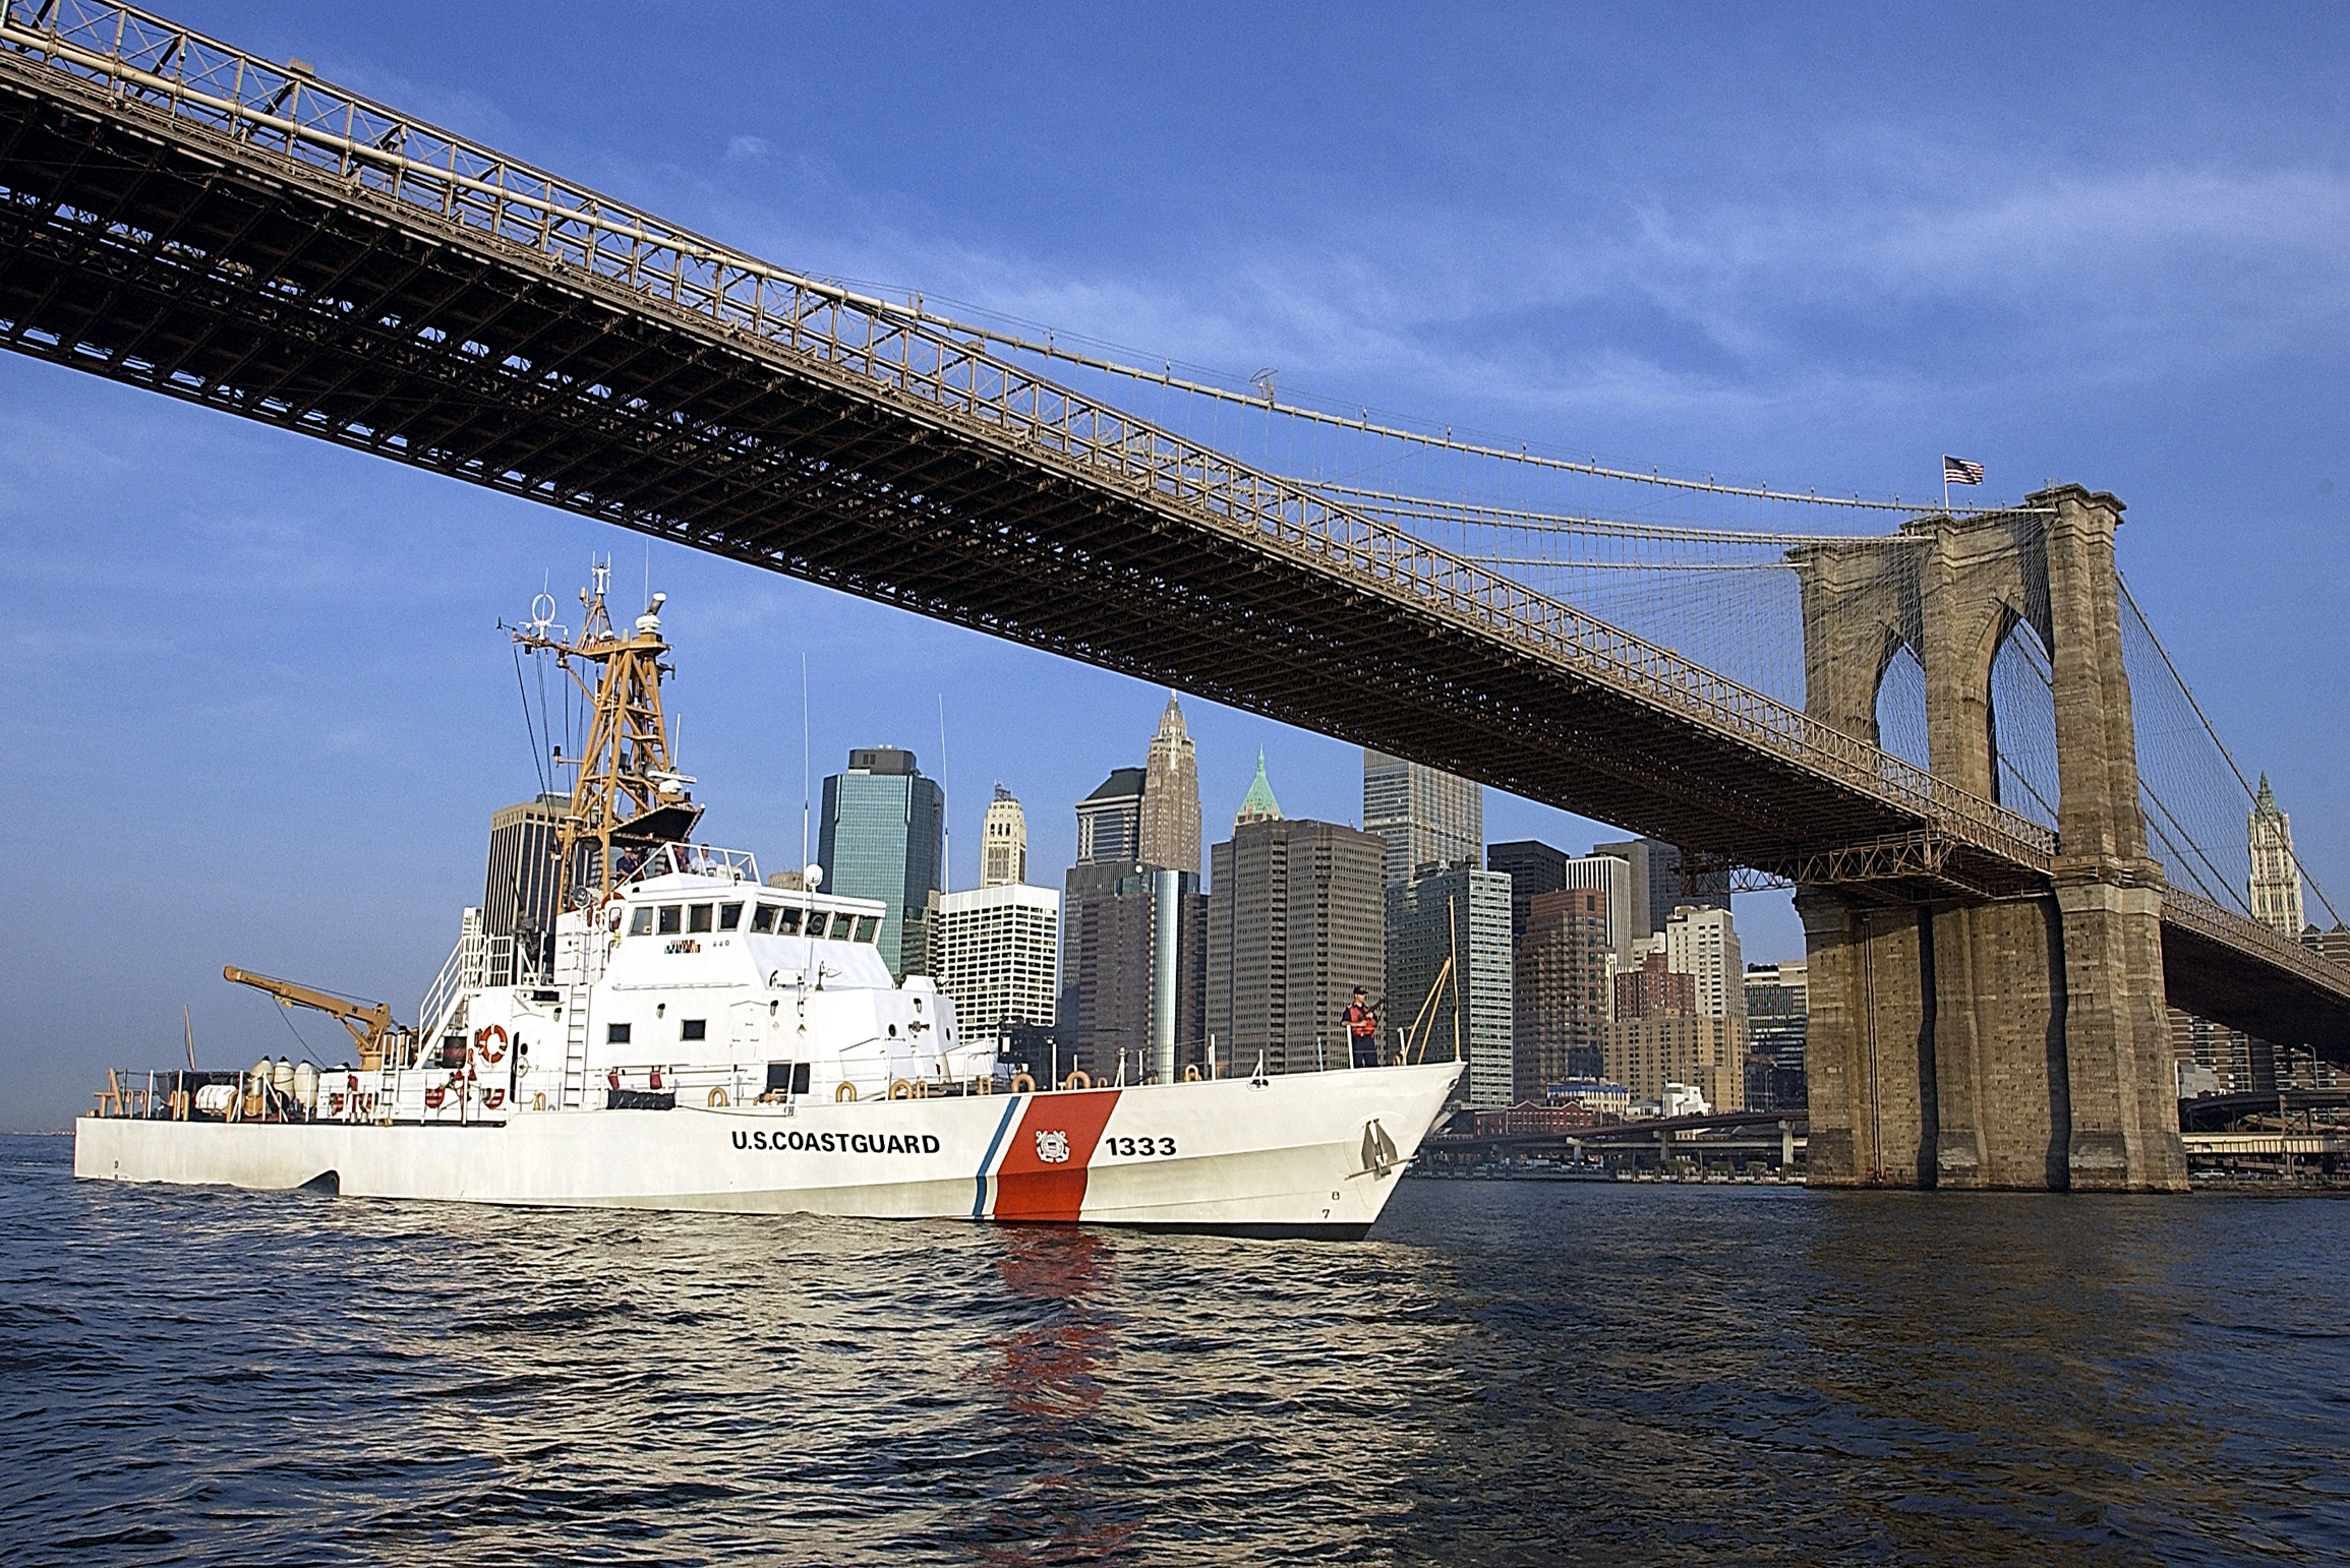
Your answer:
[[[1260,1056],[1267,1073],[1344,1066],[1340,1014],[1386,974],[1386,843],[1278,812],[1257,758],[1231,838],[1208,852],[1206,1033],[1236,1073]],[[1504,894],[1504,937],[1506,922]]]

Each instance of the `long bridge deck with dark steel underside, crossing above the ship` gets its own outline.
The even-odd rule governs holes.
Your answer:
[[[2044,885],[2047,829],[914,312],[143,12],[28,9],[0,26],[9,347],[1720,859]]]

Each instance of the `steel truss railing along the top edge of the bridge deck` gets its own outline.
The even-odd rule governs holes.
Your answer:
[[[919,300],[893,305],[785,272],[129,5],[5,0],[0,52],[226,136],[254,162],[331,174],[411,216],[494,235],[731,333],[822,359],[964,427],[1050,455],[1095,486],[1206,512],[1260,547],[1368,580],[1683,721],[1795,761],[2028,873],[2044,876],[2054,857],[2056,836],[2016,812],[1302,484],[1032,376],[987,354],[975,333],[966,343],[952,322],[924,315]],[[529,373],[522,364],[510,369]],[[566,392],[609,397],[602,387]]]

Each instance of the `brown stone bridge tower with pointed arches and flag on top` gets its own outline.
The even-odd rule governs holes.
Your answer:
[[[1814,718],[1878,742],[1878,688],[1908,648],[1934,775],[1995,800],[1990,667],[2016,627],[2047,648],[2056,697],[2047,887],[1795,894],[1821,1185],[2186,1188],[2162,869],[2146,852],[2122,669],[2122,502],[2059,486],[2028,507],[1920,519],[1911,549],[1795,552]]]

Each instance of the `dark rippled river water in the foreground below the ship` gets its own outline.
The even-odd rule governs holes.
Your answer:
[[[1405,1183],[1377,1239],[78,1185],[0,1561],[2350,1556],[2350,1204]]]

